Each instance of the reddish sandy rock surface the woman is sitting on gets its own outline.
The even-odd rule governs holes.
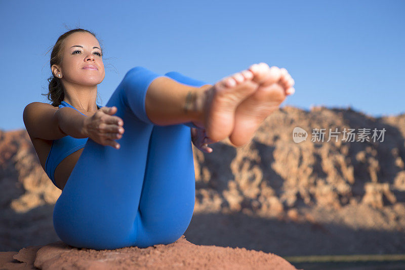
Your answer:
[[[2,269],[296,269],[274,254],[245,248],[198,246],[184,236],[169,245],[147,248],[96,251],[72,248],[58,241],[15,253],[0,252]]]

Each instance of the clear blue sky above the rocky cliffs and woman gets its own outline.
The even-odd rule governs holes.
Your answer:
[[[0,129],[25,128],[24,107],[47,102],[48,50],[76,27],[96,33],[105,105],[125,73],[145,66],[214,84],[253,63],[285,67],[282,103],[405,112],[405,1],[0,0]],[[68,28],[66,28],[66,26]]]

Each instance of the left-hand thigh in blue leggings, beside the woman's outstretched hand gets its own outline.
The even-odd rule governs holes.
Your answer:
[[[130,246],[153,125],[141,121],[123,102],[119,86],[106,106],[116,106],[125,133],[119,149],[88,139],[54,208],[54,227],[76,247]]]

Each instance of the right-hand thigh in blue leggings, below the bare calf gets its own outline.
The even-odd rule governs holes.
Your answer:
[[[154,126],[149,142],[137,242],[173,243],[191,221],[195,198],[190,128]],[[147,237],[145,239],[144,237]]]

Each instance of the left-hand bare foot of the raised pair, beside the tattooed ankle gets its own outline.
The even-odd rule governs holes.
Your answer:
[[[231,134],[236,107],[258,89],[258,83],[253,78],[252,71],[242,70],[205,90],[201,115],[203,119],[194,124],[203,124],[212,141],[223,140]]]

